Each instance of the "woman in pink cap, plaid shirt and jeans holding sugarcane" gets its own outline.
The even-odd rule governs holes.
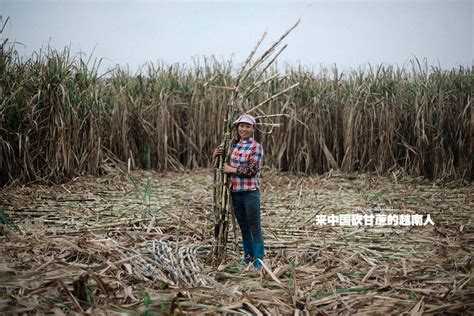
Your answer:
[[[253,260],[255,268],[262,267],[263,235],[260,224],[260,166],[262,145],[255,141],[255,118],[241,115],[235,122],[237,140],[233,143],[230,164],[224,164],[223,171],[230,174],[230,192],[235,217],[242,232],[244,262]],[[214,150],[214,157],[222,155],[222,146]]]

